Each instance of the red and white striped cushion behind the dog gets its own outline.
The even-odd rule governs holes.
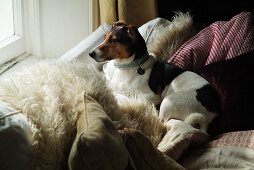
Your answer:
[[[234,58],[254,49],[253,14],[242,12],[230,21],[204,28],[168,60],[181,68],[198,71],[202,66]]]

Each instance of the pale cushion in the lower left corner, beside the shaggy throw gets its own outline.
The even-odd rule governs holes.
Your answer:
[[[0,101],[0,169],[31,169],[31,134],[21,111]]]

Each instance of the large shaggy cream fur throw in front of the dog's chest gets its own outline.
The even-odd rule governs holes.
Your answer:
[[[44,61],[0,83],[0,100],[27,116],[32,128],[33,168],[67,167],[76,133],[77,97],[84,91],[100,103],[118,128],[142,130],[157,145],[165,127],[152,115],[156,110],[138,100],[117,104],[100,73],[92,66]],[[150,128],[153,125],[153,128]]]

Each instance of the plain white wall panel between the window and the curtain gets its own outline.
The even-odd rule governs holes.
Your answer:
[[[40,0],[42,57],[59,57],[89,34],[89,0]]]

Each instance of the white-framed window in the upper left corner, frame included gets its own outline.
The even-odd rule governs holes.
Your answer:
[[[0,0],[0,65],[25,52],[24,0]]]

